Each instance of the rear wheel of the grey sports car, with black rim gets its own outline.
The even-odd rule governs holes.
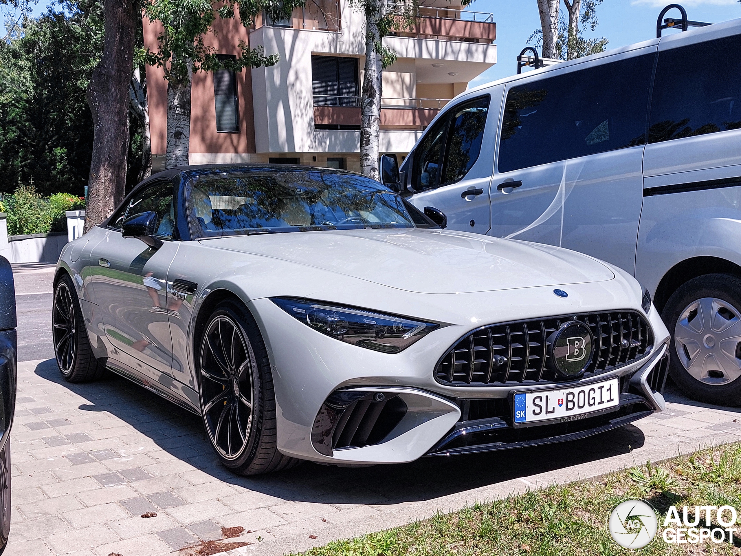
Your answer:
[[[54,286],[51,314],[54,354],[64,380],[86,383],[104,377],[105,366],[93,356],[80,300],[68,274]]]

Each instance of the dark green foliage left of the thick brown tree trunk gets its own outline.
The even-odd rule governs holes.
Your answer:
[[[82,194],[93,125],[85,100],[102,44],[100,4],[49,9],[7,24],[0,42],[0,192]]]

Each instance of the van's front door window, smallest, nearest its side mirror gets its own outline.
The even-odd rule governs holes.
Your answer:
[[[459,182],[481,152],[490,96],[462,102],[445,111],[416,149],[416,191]]]

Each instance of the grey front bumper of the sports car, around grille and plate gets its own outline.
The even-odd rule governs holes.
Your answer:
[[[593,297],[592,294],[594,298],[605,297],[605,290],[597,285],[588,284],[583,288],[594,290],[589,292],[589,297]],[[549,297],[545,297],[545,294],[540,296],[534,291],[528,292],[528,301],[533,305],[533,316],[537,315],[536,311],[543,311],[546,300],[554,297],[551,290],[545,293]],[[576,297],[576,294],[572,295]],[[590,305],[584,301],[586,297],[583,294],[582,299],[579,299],[579,312],[605,310],[602,302],[600,305]],[[511,299],[506,300],[511,302]],[[628,299],[623,301],[618,300],[616,303],[626,308],[634,307]],[[485,299],[484,302],[479,299],[479,305],[501,307],[503,304],[497,303],[492,296],[491,300]],[[665,344],[668,342],[668,331],[655,309],[648,314],[654,331],[654,348],[651,352],[641,360],[599,375],[599,380],[617,377],[622,381],[621,386],[625,389],[622,394],[625,396],[621,397],[621,405],[617,411],[600,416],[599,422],[584,419],[562,428],[534,426],[527,432],[516,434],[510,425],[511,410],[507,406],[511,395],[522,388],[554,388],[553,383],[465,388],[443,385],[433,376],[433,369],[441,354],[463,334],[477,328],[472,324],[473,318],[470,324],[459,321],[457,324],[443,326],[400,354],[382,354],[339,342],[314,331],[290,317],[270,299],[253,300],[250,310],[261,328],[273,371],[278,449],[283,454],[303,460],[337,465],[407,463],[425,455],[557,442],[570,440],[574,435],[586,436],[622,426],[662,409],[662,398],[660,394],[654,393],[660,391],[662,386],[651,390],[650,383],[647,382],[647,393],[639,380],[639,377],[645,376],[648,381],[648,374],[662,357],[662,351],[665,351]],[[522,314],[522,307],[519,311]],[[408,312],[413,317],[419,317],[412,311]],[[493,312],[477,321],[496,322]],[[438,320],[441,321],[443,320]],[[579,382],[558,383],[556,387],[578,385]],[[358,413],[354,417],[348,416],[343,423],[348,428],[343,431],[345,438],[338,444],[342,434],[335,437],[332,427],[337,425],[342,417],[342,410],[347,409],[350,403],[348,400],[338,402],[337,396],[348,393],[352,394],[350,403],[355,404],[350,412],[357,410]],[[394,428],[389,428],[383,435],[383,426],[374,428],[374,422],[363,420],[366,411],[373,418],[386,420],[386,426],[388,420],[393,420],[393,416],[389,417],[393,411],[385,411],[382,407],[373,405],[373,394],[384,394],[387,401],[388,398],[398,397],[405,406],[403,419],[391,423]],[[468,407],[472,404],[485,406],[491,403],[499,406],[496,410],[499,412],[486,414],[483,417],[485,422],[481,422],[467,410],[467,403]],[[335,407],[328,408],[332,404]],[[506,407],[502,408],[503,405]],[[350,417],[353,419],[350,420]],[[587,429],[583,428],[585,423],[589,424]],[[476,428],[476,434],[473,434],[471,427]],[[465,435],[451,437],[456,431],[464,429]],[[467,437],[465,441],[459,438],[462,436]],[[470,440],[472,438],[474,440]],[[361,445],[358,446],[358,439],[371,439],[372,442],[360,442]]]

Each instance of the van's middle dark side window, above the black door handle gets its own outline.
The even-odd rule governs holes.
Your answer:
[[[654,56],[512,87],[499,141],[499,172],[645,143]]]

